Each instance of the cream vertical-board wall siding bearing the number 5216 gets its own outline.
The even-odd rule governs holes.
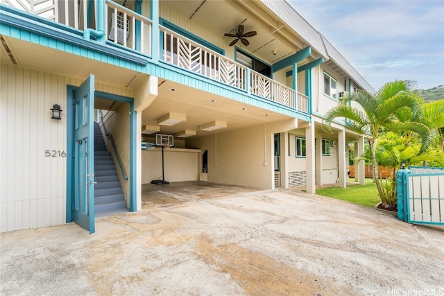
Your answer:
[[[0,232],[63,224],[67,157],[46,157],[45,150],[66,153],[67,85],[82,81],[6,64],[0,71]],[[53,104],[62,107],[62,120],[51,119]]]

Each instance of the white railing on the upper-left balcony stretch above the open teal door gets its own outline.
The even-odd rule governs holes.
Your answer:
[[[94,14],[94,19],[89,20],[90,24],[88,25],[88,0],[1,0],[1,3],[80,31],[85,31],[87,28],[98,28],[97,14]],[[96,1],[93,3],[94,8],[92,9],[96,11]],[[107,38],[114,43],[151,55],[151,20],[113,1],[106,0],[105,3],[105,19],[103,19],[105,24],[103,27]],[[139,21],[140,26],[136,26],[136,21]],[[136,32],[137,28],[139,28],[139,32]],[[136,43],[137,36],[139,36],[139,46]]]

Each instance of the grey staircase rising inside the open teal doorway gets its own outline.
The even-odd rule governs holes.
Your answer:
[[[128,212],[111,153],[106,150],[99,123],[94,123],[95,217]]]

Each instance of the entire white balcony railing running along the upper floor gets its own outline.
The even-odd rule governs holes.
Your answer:
[[[239,92],[309,113],[307,96],[163,26],[159,26],[162,40],[160,49],[153,51],[152,33],[157,28],[152,27],[152,21],[114,1],[1,0],[1,3],[65,25],[71,28],[69,30],[83,34],[86,39],[89,39],[89,35],[85,33],[89,31],[92,31],[93,37],[96,37],[94,33],[104,32],[105,44],[147,56],[159,52],[160,64],[169,64],[228,85]],[[104,12],[100,12],[100,7],[105,8]]]

